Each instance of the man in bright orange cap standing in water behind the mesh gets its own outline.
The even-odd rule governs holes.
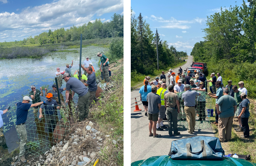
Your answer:
[[[45,101],[45,103],[40,106],[39,118],[43,117],[42,110],[44,109],[48,132],[53,133],[55,126],[56,126],[55,108],[57,107],[57,109],[60,109],[60,107],[58,106],[56,100],[52,99],[52,93],[48,93],[46,98],[47,98],[47,100]]]

